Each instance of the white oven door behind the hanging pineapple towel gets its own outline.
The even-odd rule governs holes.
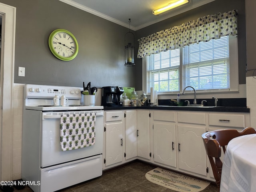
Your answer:
[[[60,145],[60,115],[79,114],[78,112],[42,112],[41,120],[41,156],[40,166],[52,166],[64,162],[87,158],[102,154],[103,152],[103,115],[104,111],[86,111],[85,113],[96,112],[95,144],[92,146],[62,151]]]

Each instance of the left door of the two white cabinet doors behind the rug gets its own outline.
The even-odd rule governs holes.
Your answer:
[[[154,161],[176,167],[175,124],[154,123]]]

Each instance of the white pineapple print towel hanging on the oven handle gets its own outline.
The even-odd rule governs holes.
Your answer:
[[[60,145],[62,151],[95,144],[95,113],[61,115]]]

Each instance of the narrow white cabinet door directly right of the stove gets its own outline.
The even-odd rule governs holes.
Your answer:
[[[105,166],[122,161],[122,130],[122,122],[106,124]]]

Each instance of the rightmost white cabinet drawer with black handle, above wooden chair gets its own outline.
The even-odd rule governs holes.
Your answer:
[[[244,128],[245,116],[241,114],[209,114],[209,125]]]

